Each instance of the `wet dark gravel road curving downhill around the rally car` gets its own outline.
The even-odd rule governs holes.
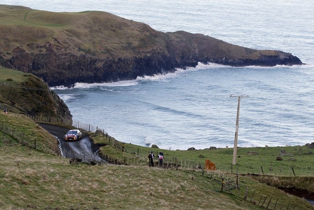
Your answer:
[[[68,128],[44,123],[39,123],[39,125],[58,139],[58,146],[62,156],[69,158],[80,157],[82,160],[95,159],[101,161],[101,158],[95,154],[97,149],[94,143],[85,133],[83,133],[82,139],[77,141],[65,141],[64,135],[69,131]]]

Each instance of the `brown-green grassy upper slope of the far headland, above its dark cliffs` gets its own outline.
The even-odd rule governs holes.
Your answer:
[[[161,40],[157,36],[164,37],[146,24],[106,12],[55,13],[8,7],[0,5],[0,49],[6,57],[17,47],[44,53],[47,42],[59,45],[59,51],[74,54],[132,56],[137,50],[154,47]],[[156,40],[151,42],[153,37]]]

